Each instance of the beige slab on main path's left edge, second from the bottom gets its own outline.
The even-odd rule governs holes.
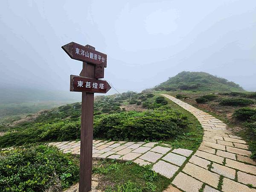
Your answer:
[[[198,192],[203,185],[201,181],[182,172],[174,178],[172,184],[186,192]]]

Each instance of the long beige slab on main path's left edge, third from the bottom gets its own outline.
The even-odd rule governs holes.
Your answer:
[[[207,169],[187,163],[182,171],[210,186],[218,187],[219,175],[209,172]]]

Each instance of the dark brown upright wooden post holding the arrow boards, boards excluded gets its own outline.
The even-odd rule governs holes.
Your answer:
[[[83,62],[80,76],[94,78],[94,64]],[[92,184],[94,93],[82,92],[79,192],[88,192]]]

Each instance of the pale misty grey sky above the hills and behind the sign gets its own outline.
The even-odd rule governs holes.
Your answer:
[[[68,91],[82,68],[61,49],[71,41],[108,55],[119,92],[183,70],[256,91],[256,0],[2,0],[0,85]]]

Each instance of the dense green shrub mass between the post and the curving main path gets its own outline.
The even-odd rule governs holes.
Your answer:
[[[182,134],[187,117],[162,106],[151,111],[129,111],[101,116],[94,122],[94,137],[113,140],[161,140]]]

